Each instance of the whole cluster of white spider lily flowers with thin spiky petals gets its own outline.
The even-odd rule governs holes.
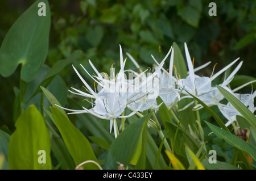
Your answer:
[[[117,74],[115,74],[116,69],[114,69],[112,65],[112,67],[110,68],[110,77],[108,77],[106,73],[100,73],[100,71],[98,71],[93,65],[92,61],[89,60],[89,64],[95,72],[94,75],[90,75],[88,71],[84,68],[84,66],[81,65],[81,67],[82,69],[84,69],[86,74],[88,74],[88,76],[93,79],[94,89],[92,89],[88,85],[85,79],[82,78],[79,71],[77,71],[77,69],[73,66],[76,74],[81,79],[82,83],[84,83],[84,88],[86,92],[75,89],[73,87],[71,87],[72,90],[69,91],[73,94],[88,98],[90,100],[90,103],[92,104],[92,108],[88,109],[82,107],[82,110],[71,110],[68,108],[63,109],[70,111],[70,113],[90,113],[96,117],[99,117],[100,119],[110,120],[110,132],[114,127],[114,134],[115,137],[117,137],[117,118],[125,119],[145,110],[158,110],[158,108],[161,106],[161,104],[158,105],[156,103],[156,98],[158,98],[158,96],[160,96],[160,98],[163,100],[163,103],[166,104],[169,109],[171,109],[175,106],[175,104],[177,104],[177,102],[179,102],[179,100],[192,98],[191,95],[187,94],[186,91],[188,91],[190,94],[197,96],[197,98],[202,100],[208,106],[217,105],[223,115],[228,119],[228,123],[226,123],[226,125],[229,125],[233,121],[236,121],[236,115],[238,115],[239,113],[230,103],[220,103],[220,101],[224,99],[224,96],[221,95],[221,93],[215,86],[212,86],[212,81],[222,73],[225,73],[225,71],[228,70],[232,65],[236,64],[239,58],[231,62],[229,65],[225,66],[225,68],[221,69],[216,74],[212,73],[210,77],[200,77],[199,75],[196,75],[195,72],[205,68],[210,64],[210,62],[207,62],[207,64],[199,66],[198,68],[194,68],[194,60],[191,60],[186,43],[184,44],[184,47],[188,65],[188,76],[182,79],[177,76],[179,73],[177,73],[176,67],[174,66],[173,48],[168,51],[168,53],[163,58],[163,60],[160,61],[160,63],[156,61],[154,56],[152,56],[152,59],[156,64],[156,66],[154,67],[155,71],[152,73],[150,72],[151,69],[142,70],[137,61],[135,61],[129,53],[126,53],[129,57],[129,60],[134,63],[135,67],[139,70],[139,72],[137,73],[134,70],[125,69],[127,59],[125,58],[125,60],[123,60],[121,46],[119,47],[120,70]],[[167,58],[169,56],[169,68],[166,70],[164,69],[163,65],[167,61]],[[242,61],[237,65],[236,69],[234,69],[232,73],[224,79],[220,86],[225,87],[226,90],[232,92],[232,94],[236,95],[237,98],[240,98],[242,103],[248,106],[251,112],[254,112],[255,107],[253,99],[256,96],[255,92],[252,94],[244,95],[234,93],[254,81],[248,82],[245,85],[237,87],[237,89],[234,90],[231,90],[228,87],[229,83],[232,81],[234,75],[241,68],[241,66]],[[129,78],[127,78],[126,74],[129,74]],[[98,91],[96,91],[96,83]],[[192,106],[192,104],[194,103],[195,102],[192,99],[192,102],[189,103],[187,106],[181,108],[181,110]],[[131,113],[129,115],[125,115],[126,108],[131,110]],[[199,110],[200,108],[203,108],[203,106],[201,106],[200,104],[196,104],[196,106],[194,106],[193,108],[194,110]]]

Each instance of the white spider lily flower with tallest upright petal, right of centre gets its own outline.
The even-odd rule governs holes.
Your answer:
[[[177,81],[177,85],[179,85],[179,87],[181,89],[184,88],[185,90],[187,90],[188,92],[190,92],[191,94],[193,94],[195,96],[200,96],[200,95],[203,95],[203,94],[206,94],[207,92],[209,92],[212,87],[212,81],[215,78],[217,78],[218,75],[220,75],[221,73],[226,71],[228,68],[230,68],[230,66],[235,64],[239,59],[239,58],[237,58],[236,60],[231,62],[229,65],[225,66],[225,68],[221,69],[220,71],[218,71],[216,74],[214,74],[211,77],[200,77],[199,75],[195,74],[195,71],[193,69],[193,63],[191,61],[191,57],[189,55],[188,47],[187,47],[186,43],[184,43],[184,47],[185,47],[185,55],[187,58],[189,74],[188,74],[187,78],[179,79]],[[186,94],[186,93],[184,92],[184,94]]]

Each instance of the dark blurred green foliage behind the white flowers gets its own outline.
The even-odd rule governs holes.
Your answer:
[[[1,1],[0,43],[33,2]],[[208,15],[210,2],[216,3],[217,16]],[[188,44],[195,66],[212,61],[208,68],[200,71],[201,75],[210,75],[216,63],[217,71],[241,57],[244,63],[238,74],[256,77],[256,1],[52,0],[49,6],[51,30],[46,65],[39,74],[42,77],[57,60],[69,57],[76,49],[82,50],[81,58],[73,62],[77,68],[79,64],[89,68],[90,59],[98,70],[109,73],[112,64],[119,66],[118,44],[122,45],[123,52],[129,52],[146,68],[153,64],[151,54],[160,60],[174,41],[183,53],[184,42]],[[13,87],[19,86],[20,67],[10,77],[0,76],[0,126],[5,124],[10,129],[14,129],[13,107],[18,93]],[[127,68],[134,68],[131,61],[127,62]],[[71,104],[67,101],[68,87],[81,83],[70,65],[59,75],[52,83],[59,83],[59,86],[49,85],[48,89],[62,96],[59,100],[67,106]]]

